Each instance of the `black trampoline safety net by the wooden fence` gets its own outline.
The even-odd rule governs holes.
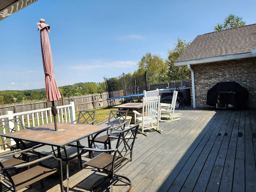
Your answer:
[[[141,76],[130,76],[122,74],[114,78],[105,78],[107,85],[108,98],[114,98],[114,91],[124,90],[124,96],[143,94],[143,90],[148,91],[148,82],[146,72]]]

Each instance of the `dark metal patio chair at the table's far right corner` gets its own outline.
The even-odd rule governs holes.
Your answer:
[[[127,110],[110,110],[109,117],[107,120],[100,122],[96,125],[104,125],[106,124],[107,126],[110,126],[109,129],[111,129],[111,133],[109,132],[109,129],[107,130],[106,134],[102,135],[101,133],[98,133],[91,138],[88,138],[88,144],[89,146],[92,146],[92,144],[95,143],[101,143],[104,144],[104,149],[111,148],[111,141],[114,140],[115,138],[109,138],[110,135],[116,136],[114,132],[118,132],[121,130],[124,130],[124,127],[126,125],[126,117],[127,117]],[[119,119],[122,118],[124,122],[120,124]],[[104,131],[103,131],[104,132]]]

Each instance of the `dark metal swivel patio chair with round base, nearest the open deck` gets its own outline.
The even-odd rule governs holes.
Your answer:
[[[127,188],[127,192],[130,191],[132,187],[132,181],[123,174],[118,175],[117,172],[118,170],[120,170],[120,168],[132,161],[132,150],[138,127],[139,125],[132,126],[128,129],[121,131],[118,136],[113,136],[117,139],[116,147],[114,149],[97,150],[92,148],[84,148],[85,150],[102,152],[98,156],[87,161],[85,165],[97,168],[98,171],[107,174],[106,177],[98,180],[94,184],[94,186],[92,187],[92,191],[96,191],[97,188],[101,188],[102,186],[106,189],[106,185],[110,186],[110,188],[112,188],[113,184],[116,184],[118,186],[118,182],[116,181],[120,181],[123,182],[123,184],[129,185],[129,188]],[[111,153],[109,154],[109,152]]]

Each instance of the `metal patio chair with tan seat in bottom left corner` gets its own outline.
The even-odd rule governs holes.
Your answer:
[[[10,154],[10,156],[12,156],[12,154]],[[2,162],[0,162],[0,167],[2,168],[3,174],[3,178],[2,180],[0,180],[0,191],[2,191],[2,186],[5,186],[6,188],[8,188],[8,190],[16,192],[22,188],[31,186],[32,184],[38,181],[41,182],[41,187],[44,188],[42,179],[58,171],[58,169],[56,168],[50,168],[42,164],[42,161],[47,160],[49,158],[55,158],[56,160],[59,160],[62,169],[61,160],[57,159],[54,155],[45,156],[31,162],[26,162],[10,167],[6,167]],[[14,175],[9,173],[10,170],[21,169],[24,167],[29,167],[29,169],[20,171],[18,174]],[[62,177],[60,177],[60,185],[62,188],[61,191],[63,191]]]

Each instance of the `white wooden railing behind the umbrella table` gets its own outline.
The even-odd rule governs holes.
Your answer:
[[[57,106],[57,122],[70,123],[76,119],[75,103],[70,102],[69,105]],[[38,125],[48,124],[53,122],[52,108],[38,109],[32,111],[25,111],[19,113],[13,113],[12,111],[7,111],[5,115],[0,116],[0,121],[20,118],[23,125],[28,127],[34,127]],[[1,133],[6,133],[6,130],[2,130]],[[0,141],[2,143],[2,140]],[[0,148],[0,153],[2,152]]]

